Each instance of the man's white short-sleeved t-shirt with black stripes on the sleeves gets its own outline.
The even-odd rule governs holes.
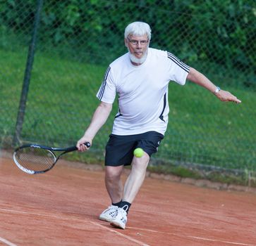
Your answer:
[[[148,48],[142,65],[130,62],[129,53],[117,58],[106,70],[97,98],[114,103],[118,94],[119,112],[112,133],[142,134],[147,131],[165,133],[168,124],[168,84],[184,85],[190,67],[167,51]]]

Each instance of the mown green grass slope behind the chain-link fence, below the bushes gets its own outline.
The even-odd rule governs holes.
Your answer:
[[[0,49],[2,146],[10,146],[15,131],[26,58],[27,48]],[[73,145],[82,136],[99,103],[95,94],[106,66],[67,60],[54,51],[51,54],[37,52],[21,136],[23,141]],[[224,89],[236,94],[243,103],[222,103],[212,93],[190,82],[185,86],[170,84],[169,128],[153,159],[171,162],[174,165],[169,170],[171,173],[199,178],[188,169],[178,168],[179,164],[255,171],[255,91],[224,84]],[[95,138],[95,151],[84,162],[103,162],[104,145],[117,110],[115,103],[111,116]],[[71,158],[82,160],[84,157],[72,155]],[[164,171],[157,164],[151,164],[151,168]],[[168,165],[165,168],[168,169]]]

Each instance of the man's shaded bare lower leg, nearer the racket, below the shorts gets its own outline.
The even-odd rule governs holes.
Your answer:
[[[123,183],[121,181],[121,174],[123,166],[119,167],[105,167],[105,185],[109,193],[111,202],[120,202],[123,198]]]

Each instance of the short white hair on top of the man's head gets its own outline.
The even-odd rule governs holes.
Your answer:
[[[133,23],[130,23],[126,30],[124,31],[124,37],[127,39],[127,37],[132,34],[134,36],[143,36],[147,34],[148,39],[151,39],[151,28],[150,25],[148,25],[145,22],[136,21]]]

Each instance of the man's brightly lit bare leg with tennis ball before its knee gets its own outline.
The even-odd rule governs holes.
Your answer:
[[[144,153],[140,158],[133,157],[132,169],[124,186],[123,200],[132,203],[145,179],[149,155]]]

